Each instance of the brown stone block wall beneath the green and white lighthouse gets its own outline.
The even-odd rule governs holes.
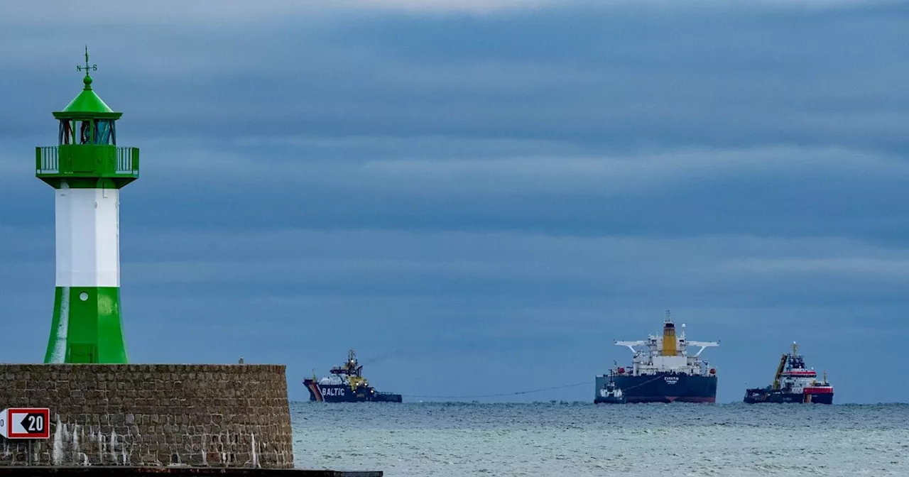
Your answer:
[[[7,407],[51,439],[0,437],[0,465],[294,466],[284,365],[0,364]]]

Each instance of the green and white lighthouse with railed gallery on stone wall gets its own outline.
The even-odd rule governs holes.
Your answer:
[[[120,189],[139,177],[139,150],[116,142],[115,113],[92,88],[63,111],[57,145],[35,148],[35,175],[54,188],[56,289],[45,363],[127,363],[120,318]]]

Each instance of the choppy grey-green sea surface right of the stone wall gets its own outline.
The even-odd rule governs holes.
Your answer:
[[[909,475],[909,405],[292,402],[297,467],[466,475]]]

